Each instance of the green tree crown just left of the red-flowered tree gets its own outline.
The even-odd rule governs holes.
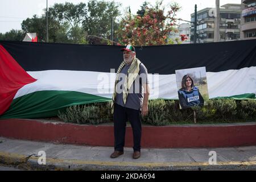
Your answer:
[[[111,36],[111,19],[115,20],[120,15],[119,3],[114,1],[89,1],[88,16],[83,22],[83,27],[88,35],[98,36],[100,38],[110,39]],[[117,23],[114,21],[114,27]]]

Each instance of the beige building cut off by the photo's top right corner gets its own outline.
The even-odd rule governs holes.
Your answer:
[[[241,39],[256,39],[256,0],[242,0]]]

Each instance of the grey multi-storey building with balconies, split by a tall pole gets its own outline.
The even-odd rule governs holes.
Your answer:
[[[226,4],[220,8],[220,41],[240,40],[241,5]],[[191,14],[191,22],[195,14]],[[191,24],[191,43],[194,26]],[[214,9],[205,8],[197,11],[197,43],[214,42]]]

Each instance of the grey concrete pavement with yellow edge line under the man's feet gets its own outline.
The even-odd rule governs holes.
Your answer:
[[[46,152],[46,165],[38,159]],[[217,164],[209,164],[209,152]],[[256,170],[256,146],[231,148],[133,148],[111,159],[113,147],[76,146],[0,137],[0,164],[32,170]],[[211,153],[211,152],[210,152]]]

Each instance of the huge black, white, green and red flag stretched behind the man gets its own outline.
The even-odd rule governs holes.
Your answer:
[[[110,101],[124,46],[0,41],[0,118]],[[255,99],[256,40],[135,47],[150,99],[177,100],[175,70],[206,67],[209,98]]]

